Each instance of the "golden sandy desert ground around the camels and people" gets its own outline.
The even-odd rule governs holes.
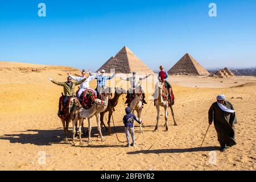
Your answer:
[[[256,86],[249,84],[241,88],[229,88],[246,82],[256,82],[255,77],[220,79],[171,76],[169,81],[176,97],[174,111],[178,126],[173,125],[170,114],[170,130],[164,132],[164,117],[161,115],[159,131],[154,132],[156,109],[148,100],[142,111],[142,120],[147,126],[143,128],[144,134],[139,133],[138,123],[135,124],[137,146],[125,147],[124,143],[118,142],[115,134],[109,136],[105,129],[102,132],[106,141],[101,142],[95,118],[92,120],[92,143],[87,143],[87,138],[83,138],[83,146],[79,145],[78,139],[76,146],[71,146],[64,143],[62,125],[57,117],[58,99],[63,89],[52,84],[47,77],[65,81],[68,71],[78,75],[80,72],[67,67],[38,72],[13,69],[17,67],[43,65],[0,62],[1,170],[256,169]],[[149,79],[151,81],[148,85],[154,88],[154,80],[152,77]],[[127,83],[123,81],[121,84],[117,79],[115,84]],[[94,88],[96,81],[92,81],[90,85]],[[152,89],[148,90],[150,93],[147,96],[150,96]],[[222,93],[232,102],[237,112],[238,144],[226,152],[218,151],[217,134],[212,125],[203,147],[200,148],[208,127],[208,109],[217,94]],[[114,121],[118,138],[123,141],[125,134],[121,119],[124,109],[121,96],[115,108]],[[161,108],[161,114],[163,111]],[[87,122],[85,126],[88,126]],[[114,133],[113,127],[112,132]]]

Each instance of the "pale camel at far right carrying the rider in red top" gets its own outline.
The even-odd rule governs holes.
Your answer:
[[[156,82],[155,93],[153,95],[155,99],[155,106],[157,111],[155,131],[158,131],[160,106],[164,107],[164,118],[166,120],[166,123],[164,123],[164,127],[166,127],[166,129],[164,131],[168,131],[168,110],[167,109],[171,105],[167,100],[163,100],[162,93],[163,93],[163,82]],[[171,107],[171,110],[172,110],[172,107]],[[172,114],[173,114],[173,111],[172,111]],[[174,125],[177,126],[175,120],[174,120]]]

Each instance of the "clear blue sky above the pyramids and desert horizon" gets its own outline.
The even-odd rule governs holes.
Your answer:
[[[0,61],[96,71],[123,46],[151,69],[169,69],[187,52],[205,68],[255,67],[256,1],[0,2]]]

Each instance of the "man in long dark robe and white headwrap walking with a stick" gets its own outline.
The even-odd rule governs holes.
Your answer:
[[[234,106],[229,101],[226,101],[224,95],[217,96],[217,102],[210,106],[208,118],[209,125],[214,122],[221,151],[225,151],[226,148],[237,144],[234,129],[234,124],[237,123],[236,113]]]

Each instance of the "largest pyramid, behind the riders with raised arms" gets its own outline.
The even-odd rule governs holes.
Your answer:
[[[110,57],[97,72],[101,69],[105,69],[106,73],[110,73],[110,69],[115,69],[115,73],[154,73],[126,46],[117,55]]]

